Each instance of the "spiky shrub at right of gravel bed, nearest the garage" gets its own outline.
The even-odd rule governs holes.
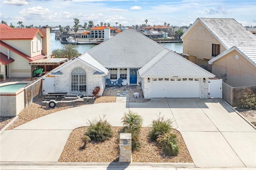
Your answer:
[[[152,121],[152,129],[149,132],[150,140],[156,140],[159,135],[169,133],[171,128],[172,121],[170,119],[164,120],[164,117],[160,117],[159,113],[158,119]]]

